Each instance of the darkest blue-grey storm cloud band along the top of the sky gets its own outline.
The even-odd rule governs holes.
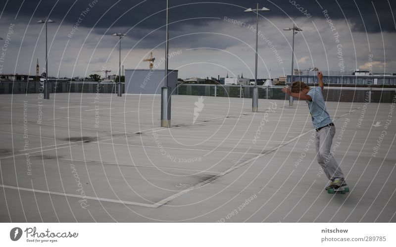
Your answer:
[[[50,15],[57,21],[64,18],[65,25],[74,24],[81,17],[82,11],[89,7],[90,11],[80,25],[111,28],[112,31],[134,25],[137,25],[137,29],[155,29],[165,22],[165,11],[163,11],[166,7],[165,0],[2,0],[2,2],[3,16],[15,17],[18,14],[18,18],[30,18],[33,15],[36,20]],[[170,0],[170,22],[198,17],[221,18],[224,15],[232,18],[252,18],[247,17],[249,14],[244,13],[243,8],[256,5],[256,0],[219,2],[221,1],[205,0],[205,3],[200,3],[194,0]],[[304,17],[301,10],[306,10],[305,13],[313,17],[323,18],[322,10],[327,9],[333,20],[347,19],[352,31],[396,32],[393,18],[393,13],[396,14],[396,4],[390,0],[272,0],[261,1],[259,6],[271,9],[271,12],[265,13],[268,18],[273,16],[287,18],[287,15],[292,18]],[[206,20],[195,19],[189,24],[202,26],[206,24]],[[177,30],[183,25],[185,23],[181,22],[173,25],[172,28]]]

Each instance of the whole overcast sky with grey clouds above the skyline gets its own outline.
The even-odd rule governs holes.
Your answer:
[[[148,69],[142,60],[150,51],[164,68],[166,0],[0,2],[3,74],[34,75],[37,59],[43,72],[45,29],[37,21],[46,15],[55,21],[48,25],[50,76],[89,76],[104,68],[117,73],[119,40],[111,35],[120,31],[128,34],[121,43],[125,69]],[[169,68],[180,78],[254,78],[256,19],[244,10],[255,6],[252,0],[169,0]],[[350,74],[371,63],[373,72],[396,73],[395,6],[392,0],[260,1],[271,11],[258,18],[258,77],[290,74],[292,32],[283,29],[293,23],[303,30],[295,36],[295,67],[301,70]]]

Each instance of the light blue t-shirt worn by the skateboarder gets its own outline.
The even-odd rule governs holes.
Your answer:
[[[313,87],[307,93],[312,98],[312,101],[306,100],[311,113],[312,123],[315,129],[326,126],[332,123],[329,113],[326,110],[325,100],[323,99],[322,89],[320,87]]]

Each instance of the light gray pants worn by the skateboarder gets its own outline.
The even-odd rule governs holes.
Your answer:
[[[315,146],[317,152],[317,161],[323,168],[329,180],[345,179],[341,168],[330,152],[333,143],[333,137],[336,134],[335,126],[326,126],[316,132]]]

